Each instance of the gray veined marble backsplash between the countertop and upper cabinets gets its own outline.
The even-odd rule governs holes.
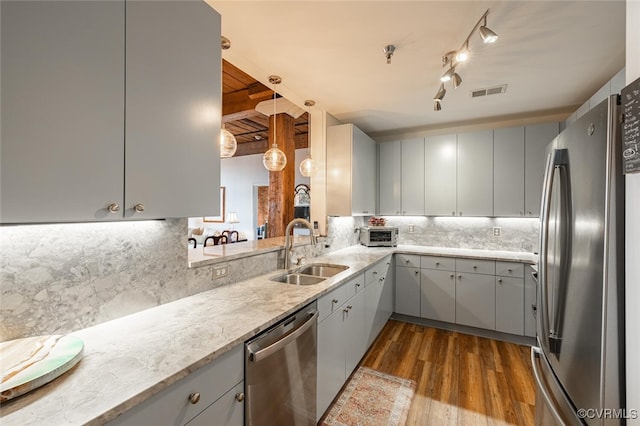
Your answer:
[[[298,246],[294,256],[357,244],[354,230],[365,220],[330,217],[321,244]],[[400,244],[537,250],[534,219],[388,217],[387,224],[400,228]],[[187,219],[0,227],[0,341],[69,333],[282,264],[282,252],[237,259],[214,280],[212,266],[187,267],[186,235]]]

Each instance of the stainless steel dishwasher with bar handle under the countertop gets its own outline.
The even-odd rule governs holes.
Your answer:
[[[316,424],[317,327],[313,302],[246,342],[246,425]]]

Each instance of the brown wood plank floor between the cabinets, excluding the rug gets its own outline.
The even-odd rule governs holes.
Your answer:
[[[533,425],[530,348],[391,320],[361,365],[415,380],[407,425]]]

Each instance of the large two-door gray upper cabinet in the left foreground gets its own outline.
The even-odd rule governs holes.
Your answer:
[[[3,223],[219,211],[217,12],[204,2],[1,7]],[[194,182],[211,195],[188,191]]]

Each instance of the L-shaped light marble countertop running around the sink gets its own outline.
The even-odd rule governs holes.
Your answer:
[[[0,423],[104,424],[391,253],[537,259],[530,253],[418,246],[338,250],[313,261],[349,269],[313,286],[270,281],[283,272],[278,270],[70,333],[85,343],[82,361],[53,382],[3,404]]]

